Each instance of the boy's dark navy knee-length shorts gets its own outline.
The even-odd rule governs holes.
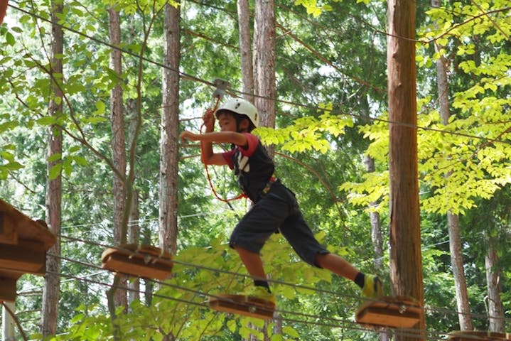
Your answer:
[[[259,253],[275,232],[287,239],[303,261],[318,266],[316,254],[328,254],[314,237],[303,219],[298,202],[291,190],[277,181],[238,222],[230,237],[230,247],[241,247]]]

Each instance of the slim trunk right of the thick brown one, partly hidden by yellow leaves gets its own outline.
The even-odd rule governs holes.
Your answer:
[[[431,0],[434,7],[441,6],[439,0]],[[435,45],[438,52],[443,47]],[[440,116],[443,124],[447,125],[451,111],[449,109],[449,83],[446,70],[446,60],[443,56],[436,60],[436,79],[439,92]],[[448,178],[448,175],[446,176]],[[456,287],[456,303],[458,306],[458,320],[461,330],[473,330],[470,318],[470,304],[468,302],[467,284],[463,268],[463,253],[461,248],[460,222],[458,215],[447,213],[449,249],[451,251],[451,264],[453,266],[454,284]]]

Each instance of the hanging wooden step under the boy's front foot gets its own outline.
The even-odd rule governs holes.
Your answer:
[[[245,295],[220,294],[210,298],[210,308],[238,315],[269,320],[273,318],[275,303]]]

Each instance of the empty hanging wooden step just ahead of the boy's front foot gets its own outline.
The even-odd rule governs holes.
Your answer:
[[[150,245],[122,244],[103,251],[102,267],[120,274],[164,280],[172,274],[172,256]]]

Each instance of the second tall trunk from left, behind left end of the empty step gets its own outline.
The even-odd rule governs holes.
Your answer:
[[[119,12],[114,8],[108,9],[109,14],[109,39],[113,46],[119,46],[121,43],[121,28]],[[124,111],[122,99],[122,87],[120,82],[122,76],[122,55],[118,49],[112,48],[110,53],[110,68],[114,70],[119,77],[119,83],[115,85],[110,94],[110,121],[112,124],[112,157],[114,167],[117,168],[124,178],[114,175],[112,183],[113,193],[113,228],[114,244],[124,244],[127,242],[127,226],[124,224],[124,214],[126,211],[126,136],[124,131]],[[127,225],[127,224],[126,224]],[[114,307],[127,306],[126,290],[122,289],[127,283],[124,275],[116,274],[114,286],[109,289],[109,310],[112,318],[115,318]],[[116,286],[121,288],[116,288]],[[113,296],[113,297],[112,297]],[[113,299],[113,302],[112,302]]]

